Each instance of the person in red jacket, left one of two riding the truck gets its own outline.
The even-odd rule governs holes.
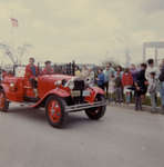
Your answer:
[[[29,65],[25,67],[25,78],[30,80],[35,97],[38,96],[38,91],[37,91],[38,75],[39,75],[39,70],[38,67],[34,65],[34,58],[29,58]]]

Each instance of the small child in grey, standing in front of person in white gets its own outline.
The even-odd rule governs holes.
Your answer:
[[[148,80],[148,94],[151,96],[152,112],[156,112],[156,89],[157,80],[155,79],[155,72],[150,72]]]

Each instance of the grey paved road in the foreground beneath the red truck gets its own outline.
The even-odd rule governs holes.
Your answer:
[[[82,112],[65,129],[43,110],[0,114],[0,167],[164,167],[164,116],[109,107],[100,121]]]

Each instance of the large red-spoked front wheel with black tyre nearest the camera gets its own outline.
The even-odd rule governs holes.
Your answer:
[[[66,117],[64,100],[50,96],[45,104],[45,115],[51,126],[62,128]]]

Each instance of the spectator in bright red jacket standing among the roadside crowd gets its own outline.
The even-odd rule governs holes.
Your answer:
[[[125,69],[122,76],[122,85],[124,88],[125,100],[126,100],[126,104],[129,105],[131,101],[131,92],[132,92],[131,88],[133,86],[133,77],[127,68]]]

